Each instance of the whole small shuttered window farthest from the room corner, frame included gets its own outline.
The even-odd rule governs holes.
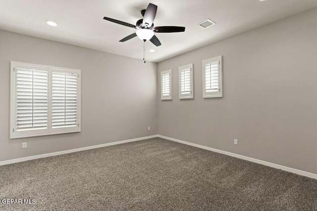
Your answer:
[[[203,97],[222,97],[221,56],[203,61]]]

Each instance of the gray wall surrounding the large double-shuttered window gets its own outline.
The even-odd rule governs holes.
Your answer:
[[[9,139],[11,60],[82,71],[81,132]],[[156,68],[152,62],[0,30],[0,161],[157,134]]]

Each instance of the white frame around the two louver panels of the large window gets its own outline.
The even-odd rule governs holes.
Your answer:
[[[47,115],[47,128],[46,129],[34,129],[34,130],[24,130],[17,131],[16,129],[16,73],[15,69],[19,66],[28,66],[28,67],[36,67],[39,69],[47,69],[48,71],[48,115]],[[63,71],[64,73],[72,73],[78,75],[77,77],[77,111],[76,111],[76,121],[77,126],[75,127],[60,127],[53,128],[52,127],[52,74],[53,70]],[[53,135],[53,134],[61,134],[61,133],[70,133],[70,132],[80,132],[81,131],[81,70],[70,69],[70,68],[62,68],[48,65],[40,65],[40,64],[31,64],[24,62],[16,62],[11,61],[10,64],[10,139],[14,138],[24,138],[24,137],[35,137],[42,135]]]

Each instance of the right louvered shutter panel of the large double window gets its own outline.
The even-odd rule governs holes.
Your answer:
[[[52,127],[77,126],[77,75],[52,74]]]

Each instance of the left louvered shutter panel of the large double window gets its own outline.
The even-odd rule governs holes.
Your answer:
[[[48,127],[48,72],[16,69],[16,130]]]

